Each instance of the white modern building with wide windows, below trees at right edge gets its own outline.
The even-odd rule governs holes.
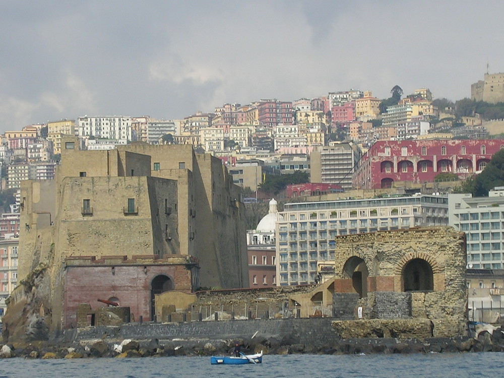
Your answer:
[[[495,187],[488,197],[450,194],[449,224],[467,235],[467,267],[504,267],[504,186]]]

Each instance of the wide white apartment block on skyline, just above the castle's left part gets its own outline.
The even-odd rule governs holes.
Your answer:
[[[131,117],[104,116],[79,117],[79,137],[132,140]]]

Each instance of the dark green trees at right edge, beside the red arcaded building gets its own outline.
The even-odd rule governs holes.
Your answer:
[[[493,154],[485,169],[468,178],[461,189],[462,193],[471,193],[474,197],[486,197],[495,186],[504,186],[504,150]]]

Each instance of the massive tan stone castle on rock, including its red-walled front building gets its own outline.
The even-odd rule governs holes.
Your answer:
[[[76,326],[80,303],[117,302],[147,321],[155,294],[248,286],[239,189],[219,159],[187,145],[79,143],[62,141],[55,180],[22,183],[11,335],[19,312],[57,334]]]

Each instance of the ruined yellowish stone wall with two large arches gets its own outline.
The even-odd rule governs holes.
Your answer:
[[[433,336],[465,333],[464,233],[451,227],[433,227],[339,236],[335,256],[335,293],[339,293],[334,297],[336,309],[344,293],[355,297],[358,291],[352,275],[354,268],[364,264],[368,277],[362,285],[367,295],[354,302],[354,308],[363,307],[363,319],[424,318],[432,322]],[[430,277],[418,262],[429,267],[426,271],[430,269]],[[413,267],[417,270],[410,270],[410,263],[416,264]],[[409,276],[417,274],[420,278]],[[426,287],[408,289],[415,279],[420,285],[424,280]]]

